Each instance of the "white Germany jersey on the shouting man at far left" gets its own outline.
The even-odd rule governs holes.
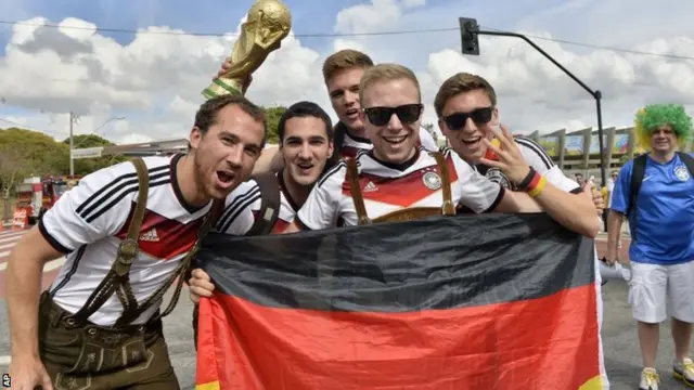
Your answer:
[[[150,190],[140,233],[140,251],[130,269],[130,284],[138,302],[147,299],[171,275],[197,240],[203,218],[211,202],[202,208],[185,203],[176,179],[176,162],[182,155],[146,157]],[[54,301],[75,313],[104,278],[126,237],[138,198],[138,176],[131,162],[118,164],[85,177],[66,192],[39,223],[51,245],[66,253],[50,287]],[[146,322],[158,309],[154,304],[137,324]],[[113,295],[89,320],[108,326],[123,312]]]

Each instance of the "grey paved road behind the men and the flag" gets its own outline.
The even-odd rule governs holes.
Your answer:
[[[3,245],[0,233],[0,246]],[[7,238],[7,236],[5,236]],[[7,242],[5,242],[7,243]],[[622,257],[626,259],[628,240],[624,244]],[[597,240],[599,251],[604,251],[604,243]],[[7,250],[7,249],[0,249]],[[7,259],[0,259],[0,264]],[[2,284],[3,269],[0,269],[0,290],[4,290]],[[54,277],[55,270],[47,273],[46,280]],[[50,282],[44,282],[50,283]],[[187,294],[187,292],[185,292]],[[167,298],[168,299],[168,298]],[[625,283],[609,282],[603,287],[604,322],[603,342],[605,351],[605,365],[614,390],[638,389],[640,365],[640,351],[637,339],[637,330],[631,320],[631,311],[627,304],[627,285]],[[192,342],[190,327],[190,313],[192,307],[187,296],[181,299],[177,309],[165,320],[165,333],[169,343],[169,350],[174,365],[183,389],[193,389],[195,382],[195,349]],[[3,356],[9,355],[9,335],[7,324],[7,311],[2,297],[0,297],[0,374],[8,372]],[[670,377],[670,364],[672,360],[672,341],[669,337],[669,328],[663,326],[660,332],[660,351],[658,369],[661,373],[661,389],[686,389]],[[562,390],[562,389],[560,389]]]

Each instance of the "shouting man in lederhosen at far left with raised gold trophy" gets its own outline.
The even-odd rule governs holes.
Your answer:
[[[208,101],[195,115],[189,152],[87,176],[13,248],[7,270],[12,389],[180,388],[162,317],[177,302],[198,239],[265,146],[265,113],[243,92],[290,27],[280,0],[256,1],[229,72],[204,92]],[[56,280],[41,291],[43,265],[63,256]]]

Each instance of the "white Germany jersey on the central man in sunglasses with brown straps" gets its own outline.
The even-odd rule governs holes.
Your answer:
[[[493,209],[503,190],[476,172],[455,153],[446,151],[446,164],[454,204],[462,203],[476,212]],[[359,184],[369,218],[412,207],[441,207],[444,196],[436,159],[427,152],[400,166],[378,161],[371,152],[356,157]],[[297,213],[298,222],[311,230],[332,227],[338,221],[346,226],[358,224],[357,210],[346,180],[347,165],[340,161],[317,183]]]

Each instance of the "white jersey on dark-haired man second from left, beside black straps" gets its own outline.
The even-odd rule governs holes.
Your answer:
[[[292,199],[282,179],[282,171],[277,173],[280,185],[280,213],[271,234],[282,234],[294,221],[298,207]],[[260,187],[255,180],[248,180],[227,196],[227,206],[217,220],[217,231],[230,235],[246,235],[258,219],[261,206]]]

